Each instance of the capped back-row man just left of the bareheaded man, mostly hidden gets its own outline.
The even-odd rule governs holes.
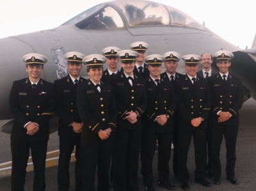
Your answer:
[[[161,73],[163,79],[169,79],[172,85],[180,77],[184,76],[181,73],[176,72],[178,62],[180,61],[180,55],[177,52],[170,51],[163,54],[164,67],[166,71]],[[173,85],[173,88],[175,86]],[[173,114],[173,174],[175,178],[179,178],[179,124],[178,124],[178,112],[174,111]]]

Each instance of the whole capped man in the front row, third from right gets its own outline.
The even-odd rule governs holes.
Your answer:
[[[141,167],[146,190],[154,191],[152,162],[158,141],[158,187],[177,190],[169,182],[169,161],[172,149],[172,117],[177,101],[172,82],[160,77],[164,57],[153,54],[145,58],[150,76],[146,80],[148,104],[143,114]]]

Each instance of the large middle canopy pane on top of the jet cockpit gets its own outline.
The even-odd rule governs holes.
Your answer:
[[[114,1],[128,20],[129,26],[168,25],[169,13],[163,4],[152,1]]]

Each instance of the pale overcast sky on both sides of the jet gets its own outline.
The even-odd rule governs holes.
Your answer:
[[[102,0],[0,0],[0,38],[58,27]],[[128,1],[129,2],[129,1]],[[188,14],[241,49],[256,33],[255,0],[157,0]]]

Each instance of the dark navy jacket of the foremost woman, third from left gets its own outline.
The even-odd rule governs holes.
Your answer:
[[[78,85],[77,110],[83,121],[81,139],[100,139],[99,130],[116,128],[115,96],[111,86],[102,81],[100,93],[91,80]]]

